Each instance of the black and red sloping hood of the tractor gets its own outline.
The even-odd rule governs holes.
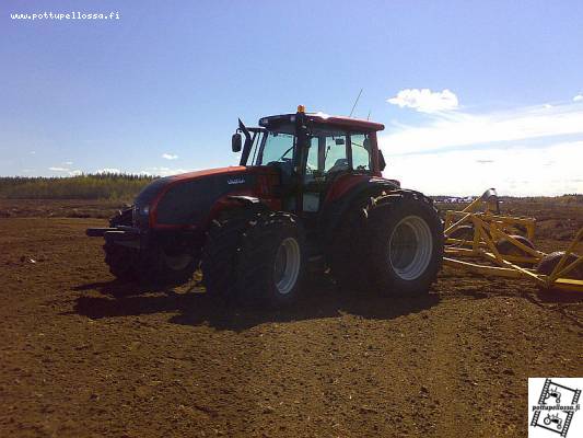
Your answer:
[[[253,194],[257,171],[233,166],[166,176],[145,186],[135,201],[135,222],[154,228],[196,227],[220,198]]]

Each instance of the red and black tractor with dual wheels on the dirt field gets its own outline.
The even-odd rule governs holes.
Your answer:
[[[105,262],[120,279],[187,281],[209,295],[293,301],[306,268],[352,289],[425,292],[443,257],[430,198],[382,177],[378,123],[305,113],[240,120],[238,166],[155,180],[109,228]]]

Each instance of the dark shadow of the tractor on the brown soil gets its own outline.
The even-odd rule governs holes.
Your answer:
[[[180,325],[209,325],[217,330],[242,332],[265,323],[284,323],[353,314],[369,320],[392,320],[436,306],[438,293],[423,297],[384,297],[381,295],[340,290],[328,278],[306,281],[302,296],[283,310],[252,308],[240,303],[219,302],[203,289],[185,291],[178,288],[141,290],[117,280],[80,285],[75,290],[97,290],[102,296],[81,296],[74,312],[92,320],[174,313],[170,322]]]

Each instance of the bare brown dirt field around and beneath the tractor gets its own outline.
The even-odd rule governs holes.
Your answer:
[[[324,278],[284,312],[224,309],[189,287],[114,281],[84,237],[105,221],[58,217],[81,204],[12,204],[0,205],[23,210],[0,219],[2,437],[525,437],[527,378],[583,376],[583,301],[529,283],[445,269],[427,298],[390,299]],[[544,217],[544,250],[583,218],[508,207]]]

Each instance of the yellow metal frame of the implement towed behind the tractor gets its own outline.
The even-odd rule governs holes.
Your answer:
[[[485,211],[480,211],[481,207],[485,207]],[[473,240],[450,238],[459,227],[469,224],[474,229]],[[552,273],[544,275],[537,273],[533,267],[547,254],[525,245],[511,235],[516,234],[517,230],[522,230],[526,232],[529,240],[533,240],[535,226],[536,220],[533,218],[500,215],[498,196],[495,191],[491,188],[463,210],[447,210],[445,212],[446,246],[443,264],[485,276],[526,278],[544,289],[583,292],[583,279],[565,277],[575,267],[583,266],[583,256],[574,253],[576,245],[583,242],[583,228],[579,230]],[[502,239],[510,242],[517,250],[516,253],[522,255],[501,254],[495,242]],[[572,262],[570,262],[571,255],[574,256]],[[476,260],[481,260],[488,264],[475,263]],[[518,263],[532,267],[518,266]]]

